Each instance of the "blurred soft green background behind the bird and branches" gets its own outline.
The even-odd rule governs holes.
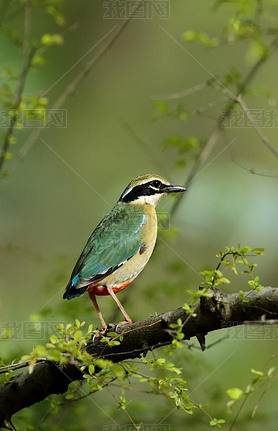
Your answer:
[[[111,49],[67,98],[63,106],[67,126],[45,128],[41,134],[43,141],[37,139],[26,158],[2,181],[1,326],[10,322],[19,328],[18,336],[0,341],[5,361],[20,358],[32,346],[46,341],[40,331],[37,335],[34,332],[33,337],[20,335],[22,322],[78,318],[98,324],[86,295],[70,302],[62,300],[64,287],[89,234],[133,177],[157,173],[184,183],[193,160],[189,158],[185,166],[177,168],[177,151],[165,149],[163,141],[174,134],[207,140],[225,106],[217,105],[207,115],[187,121],[174,116],[154,121],[154,100],[195,86],[212,75],[221,80],[231,66],[238,68],[243,76],[252,67],[244,42],[209,50],[182,41],[182,34],[192,28],[221,36],[223,22],[232,10],[227,6],[215,12],[212,5],[211,1],[175,0],[170,3],[169,19],[154,16],[131,20]],[[273,2],[273,9],[269,9],[273,19],[275,7]],[[12,8],[16,12],[18,5],[12,5],[10,12]],[[98,53],[106,39],[99,41],[122,22],[104,19],[101,1],[67,0],[63,10],[64,28],[73,26],[73,29],[65,32],[63,46],[47,50],[46,64],[29,74],[26,85],[26,93],[45,94],[50,105]],[[33,35],[57,32],[51,17],[39,9],[33,14]],[[15,13],[10,19],[10,24],[21,31],[22,13]],[[107,39],[113,36],[113,31],[116,29]],[[0,37],[1,69],[9,66],[18,71],[21,66],[18,48],[5,34]],[[268,89],[271,97],[250,91],[246,96],[249,108],[275,109],[277,67],[274,55],[259,70],[252,87]],[[1,79],[5,81],[5,77]],[[214,89],[204,88],[182,102],[186,109],[194,110],[222,96]],[[176,102],[170,105],[174,107]],[[264,131],[278,148],[277,128]],[[12,148],[14,159],[7,163],[8,171],[12,170],[16,154],[31,132],[32,129],[17,132],[18,141]],[[243,169],[235,163],[235,156],[240,165],[266,176]],[[197,289],[199,285],[198,271],[213,269],[217,265],[216,253],[226,245],[264,247],[264,256],[256,258],[259,264],[256,272],[263,285],[277,285],[275,175],[277,160],[251,127],[226,129],[210,158],[189,184],[175,216],[170,217],[170,226],[178,229],[176,236],[158,240],[153,258],[134,287],[130,287],[126,307],[134,320],[182,305],[186,289]],[[173,202],[169,197],[160,205],[160,211],[169,213]],[[248,289],[244,276],[232,280],[226,291]],[[120,293],[119,299],[124,295]],[[99,302],[104,315],[110,316],[113,301],[101,298]],[[210,334],[207,343],[227,334],[227,331]],[[190,390],[194,391],[193,398],[202,403],[209,400],[210,412],[221,416],[228,401],[225,390],[231,386],[245,387],[252,378],[250,368],[261,369],[276,350],[275,331],[270,337],[264,337],[258,330],[253,336],[240,332],[239,336],[223,340],[205,353],[183,349],[173,359],[183,368]],[[277,385],[269,389],[256,420],[251,420],[250,408],[258,397],[248,402],[235,429],[259,430],[263,422],[267,423],[268,430],[277,429],[277,391]],[[171,412],[163,422],[171,425],[171,430],[208,428],[200,417],[172,411],[171,404],[154,396],[146,399],[134,390],[127,398],[129,411],[137,421],[159,423]],[[46,403],[41,403],[28,412],[20,412],[15,423],[23,424],[26,418],[30,423],[40,423],[48,409]],[[113,424],[113,420],[126,423],[126,417],[117,410],[113,399],[101,392],[94,396],[94,401],[87,399],[65,408],[57,423],[50,415],[40,426],[77,429],[77,424],[67,422],[75,411],[83,417],[78,429],[102,430]],[[232,417],[228,416],[230,420]]]

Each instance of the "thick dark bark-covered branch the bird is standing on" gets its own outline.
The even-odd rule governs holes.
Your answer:
[[[114,362],[139,357],[149,350],[170,344],[173,333],[170,323],[177,319],[183,322],[185,339],[204,336],[211,331],[224,327],[242,325],[246,321],[256,322],[278,319],[278,289],[267,287],[261,292],[246,292],[248,302],[243,302],[237,293],[223,294],[215,291],[210,298],[202,298],[196,308],[196,317],[188,318],[182,308],[141,320],[121,331],[124,339],[120,345],[107,347],[98,341],[91,342],[87,351],[92,356],[107,358]],[[0,426],[19,410],[29,407],[51,394],[64,393],[69,383],[82,379],[82,373],[74,366],[67,365],[60,369],[50,361],[39,363],[32,374],[24,371],[12,382],[0,387]]]

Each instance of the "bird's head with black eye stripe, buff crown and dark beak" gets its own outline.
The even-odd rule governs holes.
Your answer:
[[[142,175],[128,184],[120,197],[120,202],[156,206],[166,194],[185,191],[185,187],[171,184],[159,175]]]

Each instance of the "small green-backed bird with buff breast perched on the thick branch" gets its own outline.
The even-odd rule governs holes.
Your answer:
[[[88,291],[106,331],[96,296],[110,295],[125,318],[119,324],[131,324],[116,294],[130,285],[151,257],[157,238],[156,205],[169,193],[185,191],[185,187],[171,184],[159,175],[133,179],[89,237],[63,298],[72,299]]]

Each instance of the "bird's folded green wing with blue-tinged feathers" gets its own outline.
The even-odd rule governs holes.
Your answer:
[[[78,289],[99,281],[134,256],[142,245],[140,229],[145,221],[142,209],[118,203],[90,236],[69,287]]]

